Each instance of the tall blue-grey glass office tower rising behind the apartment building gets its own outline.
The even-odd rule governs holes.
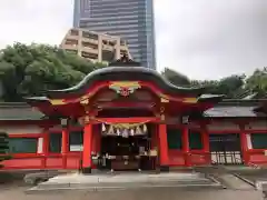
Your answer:
[[[73,27],[119,36],[131,57],[156,68],[152,0],[75,0]]]

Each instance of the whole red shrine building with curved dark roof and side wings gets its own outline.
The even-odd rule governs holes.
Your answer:
[[[123,59],[80,83],[0,103],[4,170],[267,164],[267,100],[227,100]]]

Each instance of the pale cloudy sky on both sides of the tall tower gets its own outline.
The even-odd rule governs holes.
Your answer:
[[[59,44],[73,0],[0,0],[0,48]],[[267,66],[267,0],[155,0],[157,67],[192,79],[251,73]]]

